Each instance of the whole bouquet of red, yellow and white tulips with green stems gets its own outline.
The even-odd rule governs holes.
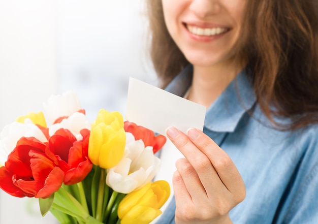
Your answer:
[[[165,142],[119,112],[101,109],[90,124],[69,91],[4,127],[0,188],[38,198],[62,224],[149,223],[170,195],[166,181],[152,182]]]

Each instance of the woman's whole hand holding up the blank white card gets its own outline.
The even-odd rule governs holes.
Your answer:
[[[197,129],[167,135],[185,158],[173,176],[175,222],[232,223],[229,211],[245,198],[245,185],[229,155]]]

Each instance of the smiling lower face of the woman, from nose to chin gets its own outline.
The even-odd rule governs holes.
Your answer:
[[[162,3],[169,34],[188,61],[204,67],[233,66],[245,1],[228,1],[222,7],[214,1]],[[210,17],[215,19],[206,19]]]

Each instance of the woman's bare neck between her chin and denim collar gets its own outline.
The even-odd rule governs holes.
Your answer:
[[[187,99],[208,108],[242,68],[234,62],[213,67],[194,66],[192,87]]]

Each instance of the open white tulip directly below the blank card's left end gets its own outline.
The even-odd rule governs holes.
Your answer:
[[[145,147],[142,140],[135,141],[126,133],[126,148],[117,166],[108,170],[106,183],[113,190],[128,194],[150,182],[160,168],[160,159],[154,156],[152,147]]]

